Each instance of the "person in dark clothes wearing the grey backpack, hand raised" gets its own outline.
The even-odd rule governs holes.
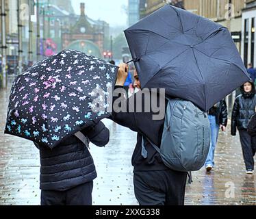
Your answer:
[[[140,205],[184,205],[187,173],[170,170],[165,166],[159,153],[146,140],[149,138],[154,144],[160,146],[168,102],[159,93],[153,91],[145,92],[141,102],[137,102],[140,99],[139,95],[144,90],[125,99],[125,90],[120,88],[123,88],[127,78],[127,68],[126,64],[120,64],[118,70],[113,95],[112,120],[138,133],[136,147],[131,158],[136,199]],[[136,71],[134,72],[133,86],[140,88],[140,80]],[[149,111],[146,111],[145,105],[143,105],[145,100],[152,100],[154,97],[157,98],[157,105],[164,109],[162,118],[158,120],[153,120],[153,115],[157,114],[155,110],[153,112],[153,109],[150,108]],[[142,110],[138,110],[140,108],[138,104],[141,104]],[[121,106],[120,112],[115,112],[117,106]],[[162,113],[159,112],[159,114]]]

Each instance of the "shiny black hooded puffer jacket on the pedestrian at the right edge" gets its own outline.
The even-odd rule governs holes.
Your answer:
[[[241,86],[241,94],[235,99],[231,116],[232,136],[235,136],[236,128],[238,128],[238,130],[246,130],[248,121],[251,116],[255,114],[255,86],[253,83],[251,83],[251,85],[253,86],[253,90],[250,93],[244,92],[244,86]]]

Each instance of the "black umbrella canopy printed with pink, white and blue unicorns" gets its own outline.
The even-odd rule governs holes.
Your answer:
[[[12,85],[5,133],[53,148],[110,116],[105,100],[117,70],[97,57],[71,50],[38,62]]]

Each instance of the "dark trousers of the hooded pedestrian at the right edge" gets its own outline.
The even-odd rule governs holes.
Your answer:
[[[240,142],[246,170],[254,170],[254,159],[256,151],[256,137],[251,137],[246,130],[239,130]]]

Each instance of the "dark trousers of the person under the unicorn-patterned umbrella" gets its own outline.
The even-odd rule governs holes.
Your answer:
[[[93,181],[65,191],[42,190],[41,205],[92,205]]]

